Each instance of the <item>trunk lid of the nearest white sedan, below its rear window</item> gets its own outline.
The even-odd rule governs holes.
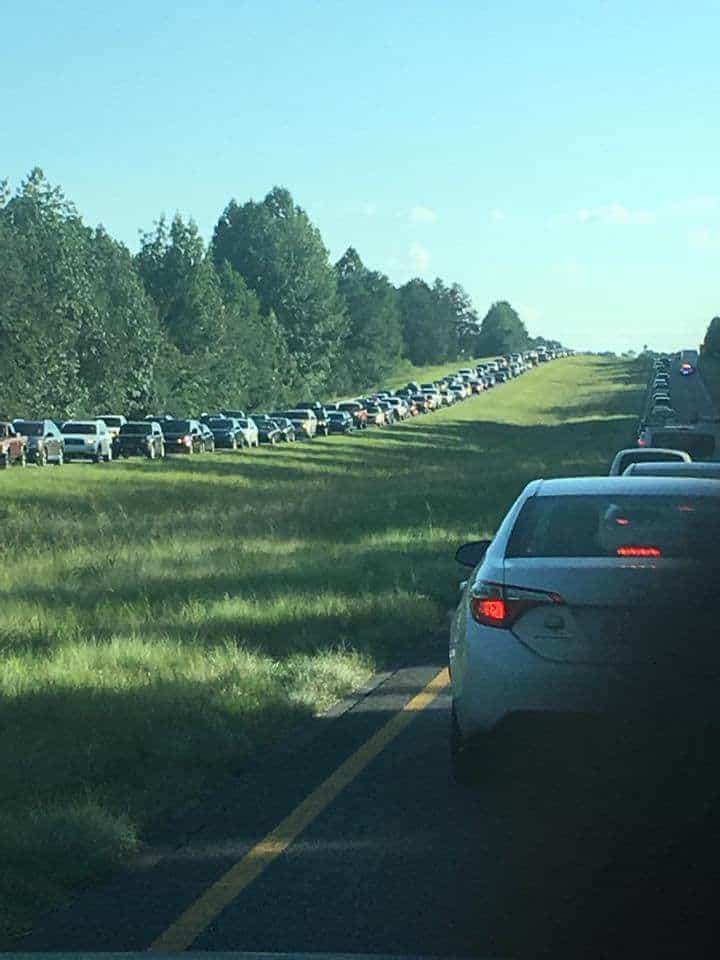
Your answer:
[[[680,560],[505,561],[506,584],[562,598],[530,607],[512,627],[529,649],[562,663],[656,663],[720,673],[714,582],[707,569]]]

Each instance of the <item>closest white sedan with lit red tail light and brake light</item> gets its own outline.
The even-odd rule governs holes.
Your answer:
[[[456,558],[474,568],[450,631],[457,780],[477,778],[510,716],[717,715],[716,481],[535,480]]]

